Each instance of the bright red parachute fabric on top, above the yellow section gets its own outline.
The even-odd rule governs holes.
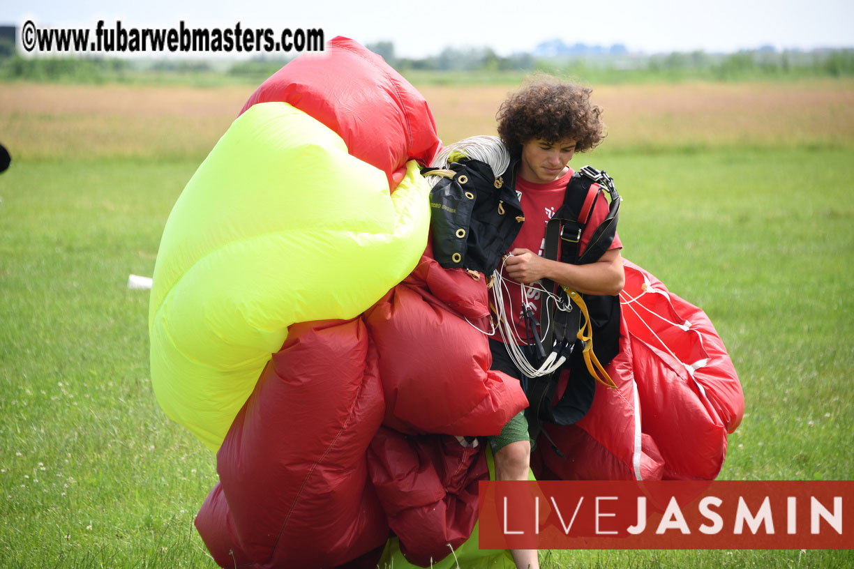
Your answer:
[[[255,90],[243,111],[259,102],[287,102],[335,131],[350,154],[384,171],[389,189],[407,160],[427,165],[441,142],[430,106],[383,58],[337,37],[322,53],[290,61]]]

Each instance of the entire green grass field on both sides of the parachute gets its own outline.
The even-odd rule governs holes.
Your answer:
[[[20,97],[8,89],[0,97]],[[88,138],[102,121],[87,131],[79,112],[15,113],[0,111],[0,127],[15,126],[0,142],[20,156],[0,175],[0,566],[213,567],[192,521],[215,457],[158,408],[148,293],[126,287],[129,274],[152,274],[168,212],[204,154],[111,155]],[[702,306],[728,345],[746,415],[722,479],[854,478],[854,131],[840,134],[833,116],[803,125],[802,148],[755,132],[668,146],[649,131],[648,151],[615,139],[574,160],[615,178],[624,256]],[[82,120],[62,133],[69,148],[39,150],[44,131],[27,125],[63,117]],[[168,123],[155,122],[158,139]],[[543,556],[546,567],[854,566],[851,551]]]

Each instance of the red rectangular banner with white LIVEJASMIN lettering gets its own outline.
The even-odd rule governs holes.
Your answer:
[[[482,482],[480,546],[851,549],[852,501],[851,481]]]

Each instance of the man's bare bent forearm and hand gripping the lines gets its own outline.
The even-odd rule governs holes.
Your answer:
[[[610,249],[595,263],[569,264],[542,258],[529,249],[513,249],[505,271],[516,282],[530,284],[542,278],[585,294],[617,295],[626,281],[619,249]]]

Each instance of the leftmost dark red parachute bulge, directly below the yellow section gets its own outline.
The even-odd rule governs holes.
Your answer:
[[[360,320],[292,326],[217,453],[196,519],[213,559],[336,566],[384,543],[366,462],[383,410]]]

